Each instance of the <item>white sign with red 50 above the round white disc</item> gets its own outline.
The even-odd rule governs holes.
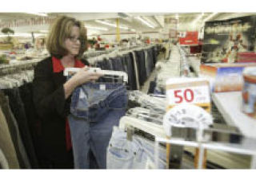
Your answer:
[[[177,104],[195,104],[210,112],[210,86],[202,78],[171,78],[166,81],[168,108]]]

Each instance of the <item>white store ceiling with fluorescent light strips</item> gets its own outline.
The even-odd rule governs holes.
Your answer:
[[[254,13],[255,14],[255,13]],[[226,18],[236,18],[246,15],[252,15],[252,13],[47,13],[47,18],[56,18],[60,15],[66,15],[78,20],[81,20],[88,27],[89,34],[95,33],[115,33],[116,32],[116,18],[119,18],[121,33],[138,33],[138,32],[159,32],[166,29],[166,26],[170,24],[165,23],[165,18],[178,19],[178,30],[191,30],[197,29],[199,25],[202,25],[204,21],[222,20]],[[38,18],[38,14],[26,14],[26,13],[0,13],[0,23],[11,22],[14,20],[26,20],[31,18]],[[146,25],[138,19],[150,23],[151,27]],[[96,22],[99,20],[99,22]],[[107,23],[112,24],[106,25]],[[103,24],[104,23],[104,24]],[[196,26],[196,28],[193,26]],[[152,25],[154,27],[152,27]],[[46,30],[49,25],[40,26],[22,26],[15,28],[15,32],[39,32],[40,30]],[[127,29],[128,28],[128,29]]]

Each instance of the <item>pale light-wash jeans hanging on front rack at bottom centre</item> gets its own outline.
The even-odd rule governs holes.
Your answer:
[[[114,127],[107,151],[107,169],[146,169],[148,162],[154,163],[154,144],[136,135],[132,141],[126,132]],[[158,168],[166,168],[166,151],[159,148]]]

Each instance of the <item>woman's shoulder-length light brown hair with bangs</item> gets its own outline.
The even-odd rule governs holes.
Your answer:
[[[50,33],[46,42],[46,48],[52,56],[61,59],[63,56],[68,54],[68,51],[65,47],[65,40],[66,38],[70,37],[71,29],[73,26],[78,26],[80,29],[81,46],[77,57],[82,57],[82,53],[84,53],[87,49],[86,28],[82,22],[66,16],[57,18],[50,28]]]

